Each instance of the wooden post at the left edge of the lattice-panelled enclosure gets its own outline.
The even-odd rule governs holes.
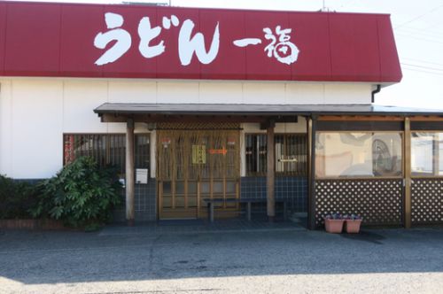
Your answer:
[[[315,229],[315,130],[316,119],[307,119],[308,212],[307,228]]]

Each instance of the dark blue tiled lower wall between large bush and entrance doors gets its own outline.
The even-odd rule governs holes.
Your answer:
[[[126,221],[125,192],[122,193],[122,205],[113,212],[113,221]],[[149,179],[147,184],[136,184],[135,199],[136,221],[157,220],[157,182]]]

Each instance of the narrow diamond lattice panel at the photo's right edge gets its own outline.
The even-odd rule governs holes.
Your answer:
[[[413,224],[443,223],[443,180],[415,179],[411,185]]]

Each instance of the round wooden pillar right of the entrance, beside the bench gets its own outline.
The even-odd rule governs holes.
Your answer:
[[[274,122],[270,122],[267,128],[268,143],[267,143],[267,165],[268,172],[266,174],[266,187],[267,187],[267,210],[268,220],[274,221],[276,216],[276,197],[274,193],[275,187],[275,144],[274,144]]]

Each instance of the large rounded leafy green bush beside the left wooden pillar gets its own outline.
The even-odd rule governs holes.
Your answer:
[[[74,160],[39,188],[42,194],[32,214],[62,220],[72,227],[104,223],[120,202],[115,168],[100,169],[90,157]]]

